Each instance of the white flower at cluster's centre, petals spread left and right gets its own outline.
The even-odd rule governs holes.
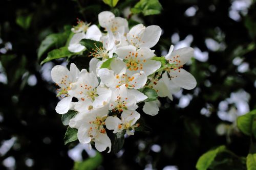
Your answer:
[[[144,87],[147,81],[144,71],[140,71],[140,73],[136,73],[131,77],[127,76],[125,72],[126,68],[123,68],[119,74],[114,74],[114,71],[108,68],[101,68],[98,74],[100,80],[110,88],[118,88],[123,84],[125,84],[127,88],[140,89]]]

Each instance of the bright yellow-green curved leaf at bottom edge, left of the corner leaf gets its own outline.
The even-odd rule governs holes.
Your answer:
[[[199,160],[197,161],[196,168],[198,170],[206,170],[215,160],[215,157],[226,150],[224,145],[216,148],[215,150],[211,150],[203,154]]]

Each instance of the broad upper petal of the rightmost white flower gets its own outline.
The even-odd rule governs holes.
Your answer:
[[[177,58],[178,56],[178,58]],[[184,65],[187,61],[191,59],[191,57],[194,56],[194,49],[191,47],[184,47],[180,48],[178,50],[173,51],[172,55],[170,55],[170,63],[176,63],[176,59],[180,61],[179,65]],[[175,58],[174,58],[175,57]]]

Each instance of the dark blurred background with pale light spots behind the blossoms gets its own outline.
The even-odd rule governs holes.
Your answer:
[[[127,17],[127,7],[137,2],[120,0],[114,12]],[[70,29],[76,18],[97,23],[98,13],[110,7],[100,0],[0,1],[0,169],[187,170],[196,169],[199,157],[219,145],[247,156],[250,139],[239,132],[236,118],[256,108],[256,1],[160,3],[161,14],[134,15],[129,22],[162,28],[153,47],[158,56],[170,44],[193,47],[195,58],[185,68],[197,87],[181,90],[173,101],[161,99],[155,117],[141,113],[152,132],[137,132],[125,139],[118,154],[107,154],[78,142],[64,145],[67,127],[55,112],[51,68],[68,63],[40,65],[46,55],[37,52],[47,35]],[[72,62],[81,68],[88,61]],[[82,160],[86,163],[81,165]],[[246,169],[229,163],[226,169]]]

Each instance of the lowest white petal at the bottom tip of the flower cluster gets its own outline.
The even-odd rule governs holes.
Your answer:
[[[97,137],[94,139],[95,148],[99,151],[105,151],[109,147],[109,152],[111,151],[111,140],[106,133],[98,133]]]

